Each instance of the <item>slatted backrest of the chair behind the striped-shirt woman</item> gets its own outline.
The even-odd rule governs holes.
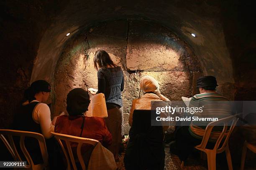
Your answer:
[[[232,115],[232,116],[224,117],[217,121],[210,122],[205,129],[205,134],[204,134],[204,137],[202,138],[202,143],[200,145],[198,145],[197,147],[205,149],[205,147],[210,139],[210,135],[212,133],[212,129],[214,128],[214,126],[223,126],[223,130],[220,133],[218,140],[216,141],[215,146],[213,148],[214,150],[217,150],[217,153],[222,152],[228,143],[228,139],[229,139],[237,121],[238,121],[238,118],[236,118],[236,115]],[[228,127],[230,127],[230,128],[228,129]],[[222,145],[220,146],[220,143],[223,141],[224,137],[225,137],[225,140],[222,143]]]

